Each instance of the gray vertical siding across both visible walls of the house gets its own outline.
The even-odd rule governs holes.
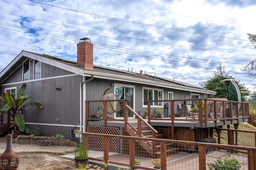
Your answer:
[[[30,80],[33,79],[33,60],[30,61]],[[26,82],[27,87],[24,94],[32,96],[27,102],[39,102],[44,106],[44,109],[38,107],[26,107],[24,111],[26,123],[44,123],[45,125],[31,125],[26,124],[26,127],[40,128],[46,135],[56,135],[57,133],[65,135],[66,138],[72,139],[71,130],[74,125],[80,122],[80,83],[83,82],[83,77],[79,75],[64,76],[73,74],[64,69],[56,68],[48,64],[42,63],[41,77],[49,79],[38,79],[35,81]],[[63,76],[54,78],[54,76]],[[52,78],[51,78],[52,77]],[[87,77],[88,80],[90,77]],[[15,82],[17,82],[15,84]],[[17,92],[22,86],[22,65],[2,84],[14,83],[1,87],[1,94],[5,88],[17,87]],[[142,84],[121,82],[114,80],[104,80],[94,78],[92,81],[86,83],[86,100],[100,100],[106,89],[111,88],[114,92],[114,87],[111,84],[127,84],[135,86],[135,111],[143,113],[142,108],[142,87],[160,88],[164,89],[164,99],[168,98],[168,91],[174,93],[174,99],[190,98],[189,92],[181,90],[173,90],[155,86],[146,86]],[[60,88],[60,90],[56,90]],[[202,96],[200,96],[202,98]],[[57,121],[57,118],[60,121]],[[60,125],[60,126],[58,126]],[[65,127],[70,125],[71,127]]]

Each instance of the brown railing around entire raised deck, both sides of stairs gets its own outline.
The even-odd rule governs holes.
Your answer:
[[[103,109],[103,118],[96,116],[97,106],[103,104],[105,108],[108,102],[119,102],[120,110],[115,114],[108,114],[107,109]],[[186,104],[185,104],[186,102]],[[223,125],[233,124],[235,121],[249,121],[249,103],[234,102],[227,100],[213,99],[186,99],[186,100],[151,100],[147,102],[148,106],[148,123],[153,120],[168,120],[171,126],[174,127],[176,121],[187,121],[198,123],[198,127],[208,126],[209,122],[214,122],[218,126],[218,122],[223,121]],[[190,109],[198,107],[198,112],[189,113]],[[157,118],[155,113],[156,108],[162,109],[162,118]],[[141,108],[142,111],[145,108]],[[94,100],[86,101],[86,124],[88,121],[102,120],[106,126],[107,121],[128,121],[129,118],[141,117],[137,114],[138,111],[127,107],[127,100]]]

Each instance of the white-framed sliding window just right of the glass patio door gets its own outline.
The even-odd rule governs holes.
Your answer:
[[[143,107],[146,107],[148,100],[163,100],[163,90],[156,88],[143,88]],[[163,106],[162,102],[150,102],[150,106]]]

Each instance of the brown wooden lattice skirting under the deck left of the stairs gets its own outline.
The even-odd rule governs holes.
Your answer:
[[[87,125],[86,132],[109,134],[109,135],[120,135],[120,128]],[[90,135],[90,136],[87,136],[86,139],[87,139],[87,143],[90,146],[89,149],[103,151],[103,148],[104,148],[103,137]],[[109,152],[120,152],[120,139],[111,137],[109,139],[108,145],[109,145]]]

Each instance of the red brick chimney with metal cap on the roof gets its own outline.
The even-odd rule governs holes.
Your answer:
[[[93,70],[93,44],[91,39],[82,38],[77,44],[77,61],[78,66]]]

